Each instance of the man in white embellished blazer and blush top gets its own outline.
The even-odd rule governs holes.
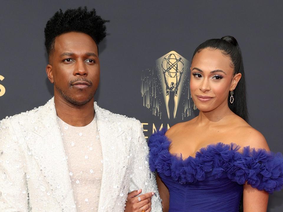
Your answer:
[[[1,121],[0,211],[162,211],[140,122],[93,105],[106,22],[86,7],[47,22],[54,97]]]

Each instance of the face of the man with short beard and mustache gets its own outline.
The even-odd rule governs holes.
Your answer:
[[[46,67],[54,83],[54,96],[72,105],[84,105],[91,100],[99,83],[98,49],[87,34],[68,32],[55,38],[54,52]]]

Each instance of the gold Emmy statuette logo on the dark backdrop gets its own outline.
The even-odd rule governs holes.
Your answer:
[[[155,67],[146,69],[141,76],[144,107],[152,110],[152,115],[160,119],[162,111],[168,119],[175,119],[181,102],[182,119],[190,116],[191,111],[196,109],[189,89],[190,62],[175,51],[168,52],[155,62]]]

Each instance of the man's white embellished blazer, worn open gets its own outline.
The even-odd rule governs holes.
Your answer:
[[[139,188],[155,192],[152,211],[162,211],[141,123],[96,103],[94,110],[103,155],[98,212],[124,211]],[[0,211],[76,211],[54,98],[0,122]]]

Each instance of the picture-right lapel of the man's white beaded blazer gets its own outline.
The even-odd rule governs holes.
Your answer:
[[[96,112],[96,120],[99,138],[101,142],[103,156],[103,173],[101,181],[101,191],[99,197],[98,212],[113,211],[118,196],[124,196],[123,179],[126,174],[127,164],[129,160],[130,147],[125,142],[126,135],[113,120],[115,116],[111,112],[101,109],[94,104]],[[124,208],[123,205],[120,208]]]

